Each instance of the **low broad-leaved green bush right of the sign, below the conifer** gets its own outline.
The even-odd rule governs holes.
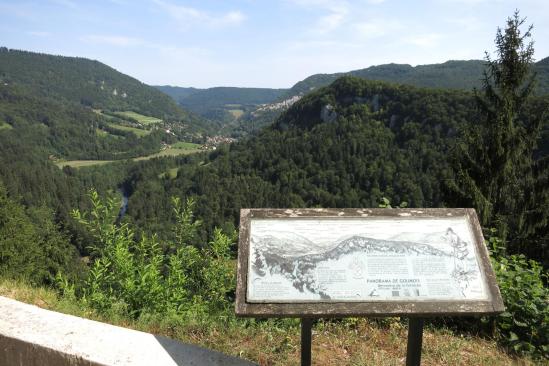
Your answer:
[[[549,358],[547,273],[539,263],[524,255],[503,254],[501,239],[492,236],[489,244],[506,309],[493,319],[498,340],[519,354]]]

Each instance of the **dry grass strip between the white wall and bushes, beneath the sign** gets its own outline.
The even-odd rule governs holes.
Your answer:
[[[114,325],[162,334],[186,343],[246,358],[260,365],[299,365],[300,333],[297,320],[208,321],[163,316],[130,320],[100,315],[53,290],[0,279],[0,295],[36,306]],[[406,356],[407,328],[398,318],[383,321],[351,319],[319,321],[313,328],[314,365],[402,365]],[[513,358],[495,342],[455,335],[427,327],[423,335],[422,365],[533,365],[527,358]]]

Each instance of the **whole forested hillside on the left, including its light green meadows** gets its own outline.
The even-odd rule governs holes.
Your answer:
[[[112,192],[125,159],[204,139],[203,119],[97,61],[1,48],[0,80],[0,184],[17,204],[55,213],[84,252],[70,211],[87,206],[89,188]],[[67,160],[120,163],[77,176],[60,169]]]

